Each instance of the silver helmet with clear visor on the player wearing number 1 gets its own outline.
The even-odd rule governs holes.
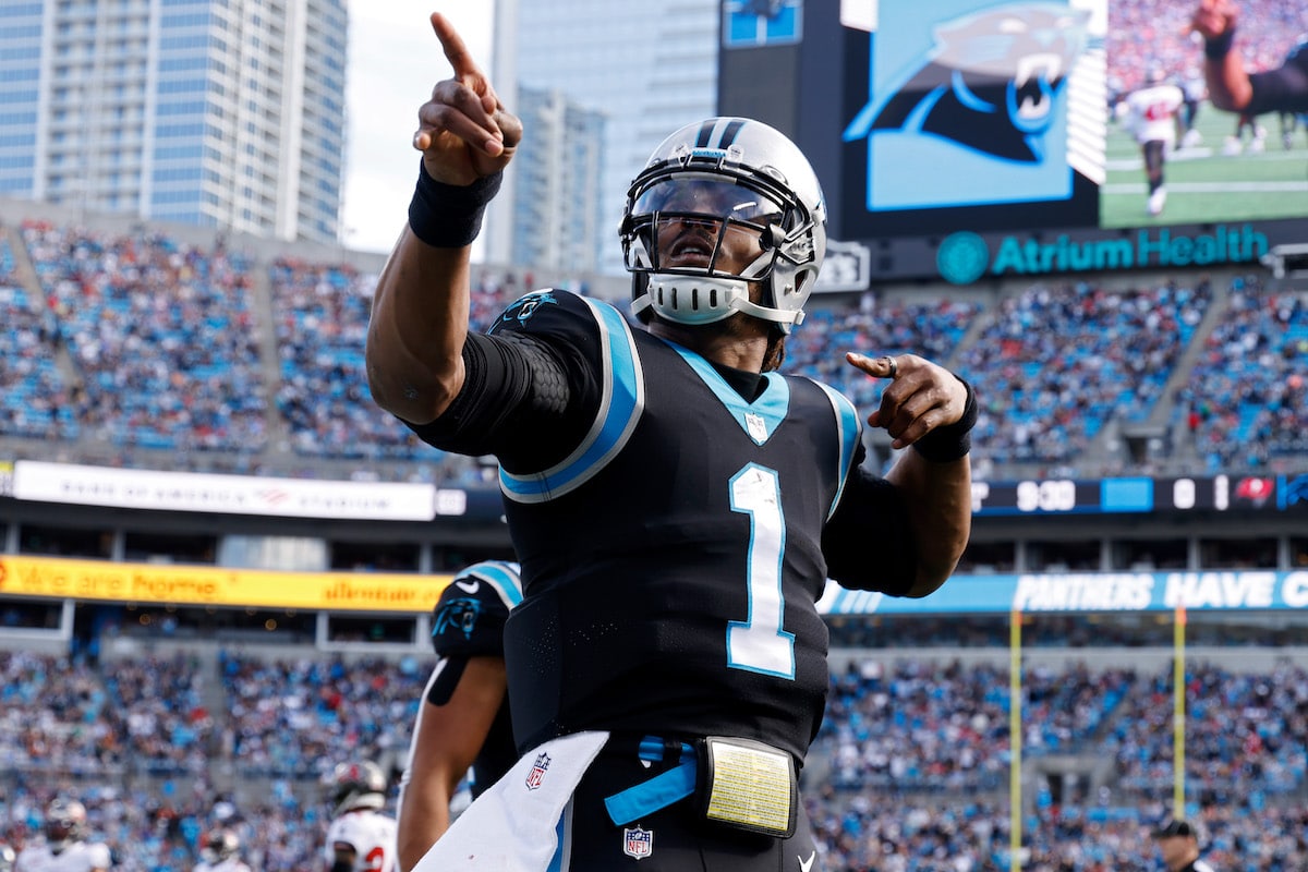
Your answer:
[[[659,233],[697,220],[717,242],[704,265],[667,264]],[[759,237],[763,255],[743,269],[718,267],[730,229]],[[827,203],[799,148],[777,129],[747,118],[687,124],[654,149],[627,191],[623,258],[632,273],[632,311],[681,324],[708,324],[740,311],[776,323],[782,333],[803,320],[827,254]],[[749,282],[763,286],[761,303]]]

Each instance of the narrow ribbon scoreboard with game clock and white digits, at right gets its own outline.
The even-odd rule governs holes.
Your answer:
[[[1185,511],[1308,511],[1308,473],[972,482],[972,512],[978,516]]]

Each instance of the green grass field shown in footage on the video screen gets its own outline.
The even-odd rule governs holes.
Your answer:
[[[1100,224],[1134,227],[1308,217],[1308,132],[1300,126],[1287,150],[1281,141],[1279,116],[1262,115],[1258,123],[1267,128],[1264,152],[1223,156],[1222,145],[1235,133],[1236,116],[1201,106],[1196,128],[1203,141],[1168,153],[1163,167],[1167,208],[1158,217],[1144,210],[1148,188],[1139,145],[1120,124],[1109,124]]]

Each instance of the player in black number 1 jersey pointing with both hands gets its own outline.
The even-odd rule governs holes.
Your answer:
[[[417,869],[816,872],[798,777],[825,707],[828,577],[926,596],[971,531],[969,386],[916,354],[858,411],[777,373],[825,254],[825,200],[778,131],[674,132],[633,182],[628,322],[564,290],[468,331],[471,246],[522,137],[439,14],[454,76],[419,110],[420,179],[379,277],[373,397],[430,444],[492,454],[523,601],[505,625],[526,753]]]

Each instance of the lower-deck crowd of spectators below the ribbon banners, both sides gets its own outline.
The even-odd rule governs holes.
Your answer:
[[[254,869],[310,868],[324,777],[341,760],[398,774],[424,680],[411,658],[0,652],[0,841],[24,843],[46,803],[71,795],[115,869],[191,868],[218,824]],[[837,669],[804,784],[827,868],[1008,868],[1008,686],[986,660],[855,656]],[[1171,665],[1028,664],[1022,693],[1023,760],[1036,763],[1023,868],[1147,868],[1172,783]],[[1300,869],[1308,669],[1197,662],[1186,696],[1188,795],[1209,856],[1235,872]],[[1099,775],[1054,784],[1039,761],[1058,756]]]

